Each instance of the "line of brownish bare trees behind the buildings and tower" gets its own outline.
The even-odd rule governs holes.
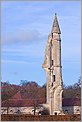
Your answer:
[[[1,100],[11,99],[18,91],[25,99],[42,98],[46,102],[46,84],[38,85],[35,81],[21,81],[20,85],[1,82]],[[81,98],[81,80],[69,86],[63,85],[63,98]]]

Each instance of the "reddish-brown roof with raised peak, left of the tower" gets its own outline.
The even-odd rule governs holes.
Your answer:
[[[29,98],[29,97],[28,97]],[[37,106],[38,104],[45,103],[45,100],[42,98],[25,98],[23,97],[23,94],[18,91],[11,99],[5,100],[1,102],[2,107],[30,107],[34,106],[34,104]]]

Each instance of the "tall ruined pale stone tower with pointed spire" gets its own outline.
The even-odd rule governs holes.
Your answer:
[[[62,111],[62,66],[61,66],[61,39],[60,28],[55,14],[51,33],[45,51],[42,67],[46,72],[46,102],[49,105],[50,115],[61,114]]]

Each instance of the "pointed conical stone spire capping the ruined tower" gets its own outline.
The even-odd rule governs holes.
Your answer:
[[[55,13],[55,18],[54,18],[53,26],[52,26],[52,33],[59,33],[59,34],[61,34],[56,13]]]

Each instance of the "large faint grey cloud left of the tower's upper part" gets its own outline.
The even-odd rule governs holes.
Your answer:
[[[22,44],[31,44],[35,41],[39,42],[44,35],[40,34],[36,30],[25,31],[20,30],[15,33],[7,33],[6,36],[2,37],[2,44],[12,44],[12,43],[22,43]]]

